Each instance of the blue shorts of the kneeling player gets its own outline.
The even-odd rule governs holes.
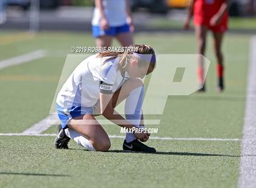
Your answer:
[[[68,109],[64,109],[63,107],[56,104],[56,110],[62,124],[62,129],[68,128],[67,124],[70,119],[76,118],[81,115],[93,114],[95,107],[81,107],[81,106],[73,106]]]

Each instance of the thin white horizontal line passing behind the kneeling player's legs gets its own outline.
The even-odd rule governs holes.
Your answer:
[[[57,136],[57,134],[38,134],[38,133],[0,133],[0,136]],[[122,138],[126,136],[109,135],[109,138]],[[180,141],[241,141],[239,138],[171,138],[151,136],[150,139],[160,140],[180,140]]]

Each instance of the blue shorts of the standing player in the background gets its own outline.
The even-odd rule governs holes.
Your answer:
[[[130,32],[130,27],[128,24],[124,24],[118,27],[109,27],[107,30],[102,30],[100,26],[93,25],[92,32],[94,38],[97,38],[102,35],[116,36],[119,33]]]

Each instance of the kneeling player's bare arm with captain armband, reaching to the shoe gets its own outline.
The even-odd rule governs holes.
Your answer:
[[[99,101],[101,106],[101,114],[115,123],[120,127],[126,127],[127,129],[132,129],[133,124],[123,118],[115,109],[112,107],[112,86],[106,83],[101,83]],[[134,133],[138,139],[148,139],[148,133]]]

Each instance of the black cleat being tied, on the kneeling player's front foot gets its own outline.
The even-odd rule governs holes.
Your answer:
[[[126,140],[124,140],[123,149],[125,151],[129,152],[144,152],[144,153],[155,153],[156,150],[154,147],[146,146],[145,144],[138,141],[138,139],[135,139],[131,141],[130,143],[127,143]]]

